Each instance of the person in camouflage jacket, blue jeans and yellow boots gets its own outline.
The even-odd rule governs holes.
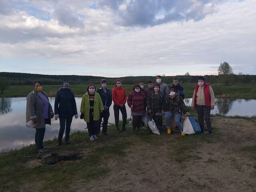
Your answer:
[[[183,126],[180,122],[180,117],[182,114],[186,117],[186,105],[183,101],[183,98],[175,93],[175,89],[170,89],[170,96],[166,100],[166,105],[164,107],[166,114],[165,114],[165,122],[167,127],[167,133],[171,133],[170,129],[170,118],[174,115],[175,123],[177,124],[180,132],[182,133],[181,136],[185,136],[183,133]]]

